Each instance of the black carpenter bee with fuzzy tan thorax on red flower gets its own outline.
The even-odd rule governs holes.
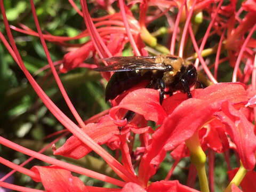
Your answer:
[[[188,98],[191,98],[190,86],[197,79],[193,64],[174,55],[111,57],[103,60],[109,65],[94,70],[115,71],[106,87],[106,101],[115,99],[145,79],[149,81],[147,88],[159,90],[161,104],[165,94],[172,95],[175,91],[187,93]],[[133,116],[132,111],[127,111],[124,118],[129,122]]]

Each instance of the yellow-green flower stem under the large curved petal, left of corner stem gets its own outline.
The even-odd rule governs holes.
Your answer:
[[[191,163],[195,165],[197,170],[200,189],[202,192],[209,192],[209,184],[205,171],[206,156],[200,146],[198,132],[186,141],[186,145],[190,150]]]

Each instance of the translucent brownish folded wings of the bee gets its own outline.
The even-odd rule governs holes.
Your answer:
[[[134,71],[141,69],[165,70],[163,63],[155,63],[154,56],[111,57],[103,59],[108,66],[94,68],[96,71]]]

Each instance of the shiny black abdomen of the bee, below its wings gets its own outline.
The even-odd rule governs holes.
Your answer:
[[[130,89],[134,85],[140,83],[144,79],[140,72],[125,71],[114,73],[106,87],[105,99],[115,99],[117,95]]]

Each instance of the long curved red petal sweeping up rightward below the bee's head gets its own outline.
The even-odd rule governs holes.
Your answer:
[[[164,108],[171,105],[171,98],[163,102]],[[222,102],[227,100],[231,103],[246,102],[244,87],[241,84],[217,84],[204,90],[195,90],[193,98],[183,101],[176,107],[153,134],[151,145],[140,164],[139,177],[147,183],[151,175],[155,174],[159,163],[163,161],[164,151],[173,150],[189,139],[201,126],[210,121],[212,115],[221,109]],[[155,161],[155,157],[160,158]]]

